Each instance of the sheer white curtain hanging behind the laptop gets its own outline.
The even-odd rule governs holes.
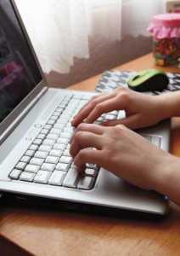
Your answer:
[[[88,58],[88,38],[147,35],[163,0],[16,0],[42,70],[69,73],[74,57]]]

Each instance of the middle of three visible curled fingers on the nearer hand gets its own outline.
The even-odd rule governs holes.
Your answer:
[[[102,148],[102,138],[99,135],[93,134],[88,131],[78,131],[70,144],[70,154],[76,157],[76,154],[82,148]]]

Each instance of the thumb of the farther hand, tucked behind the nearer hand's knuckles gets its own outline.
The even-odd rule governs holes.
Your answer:
[[[139,114],[133,114],[125,119],[111,120],[101,124],[102,126],[125,125],[129,129],[137,129],[139,127]]]

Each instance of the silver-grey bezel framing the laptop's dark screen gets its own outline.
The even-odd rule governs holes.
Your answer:
[[[14,9],[14,15],[16,16],[17,20],[20,23],[20,28],[25,37],[25,41],[29,46],[32,57],[37,65],[39,73],[42,76],[42,80],[35,86],[33,90],[31,90],[31,92],[27,96],[25,96],[24,100],[20,102],[20,104],[16,108],[14,108],[14,110],[11,113],[9,113],[8,116],[0,124],[0,144],[3,143],[4,139],[8,137],[9,133],[14,130],[15,126],[17,126],[20,123],[21,119],[23,119],[23,117],[25,116],[25,113],[27,113],[31,109],[28,108],[28,106],[31,105],[31,102],[36,100],[37,95],[40,94],[42,90],[45,90],[47,88],[47,82],[44,73],[42,72],[42,68],[37,59],[37,55],[33,49],[28,33],[25,29],[23,20],[20,17],[20,12],[18,10],[17,4],[15,3],[15,0],[9,0],[9,3],[11,3],[12,8]]]

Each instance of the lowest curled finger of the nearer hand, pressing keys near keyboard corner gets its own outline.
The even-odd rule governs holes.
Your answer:
[[[104,154],[101,150],[84,148],[76,155],[74,164],[80,172],[84,172],[86,169],[86,163],[93,163],[101,166],[103,160]]]

